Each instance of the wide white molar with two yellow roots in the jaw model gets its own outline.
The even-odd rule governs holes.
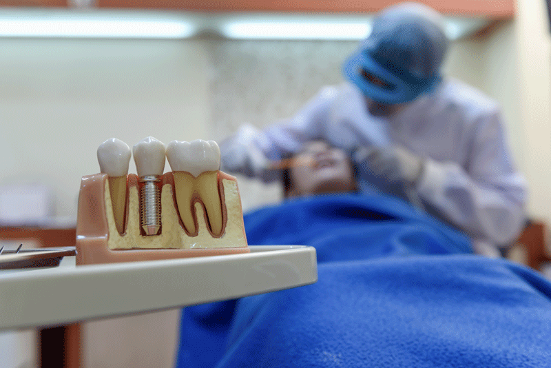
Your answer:
[[[171,141],[167,145],[167,159],[174,174],[174,192],[178,212],[190,234],[197,231],[193,198],[198,194],[207,210],[211,231],[222,232],[222,203],[218,193],[220,148],[214,141]]]

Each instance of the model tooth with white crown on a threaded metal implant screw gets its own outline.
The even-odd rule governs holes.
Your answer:
[[[146,235],[160,229],[160,200],[156,183],[165,170],[165,145],[152,136],[142,139],[133,148],[141,188],[141,223]]]

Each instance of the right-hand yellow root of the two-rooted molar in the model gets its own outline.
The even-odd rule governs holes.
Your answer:
[[[222,203],[218,192],[218,171],[200,174],[196,178],[196,188],[202,203],[205,204],[212,233],[214,236],[222,235]]]

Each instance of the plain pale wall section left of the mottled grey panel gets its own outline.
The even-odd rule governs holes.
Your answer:
[[[201,43],[1,39],[0,50],[0,184],[50,185],[59,216],[76,216],[105,139],[207,138]]]

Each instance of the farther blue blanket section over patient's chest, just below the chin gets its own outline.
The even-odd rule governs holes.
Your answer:
[[[245,215],[251,245],[311,245],[318,263],[470,253],[464,234],[408,203],[378,194],[313,196]]]

